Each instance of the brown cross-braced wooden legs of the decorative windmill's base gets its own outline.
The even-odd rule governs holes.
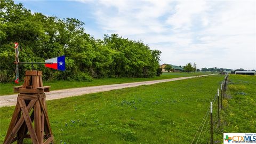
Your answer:
[[[34,109],[33,111],[31,111],[32,108]],[[30,111],[31,115],[29,116]],[[22,143],[24,138],[31,138],[33,143],[50,143],[53,141],[45,107],[45,94],[34,94],[30,95],[30,97],[28,94],[19,94],[18,96],[18,102],[4,143],[12,143],[16,140],[18,143]],[[43,141],[44,139],[46,141]]]

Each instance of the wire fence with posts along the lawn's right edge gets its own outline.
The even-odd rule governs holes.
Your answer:
[[[225,93],[227,89],[227,79],[228,75],[225,76],[220,84],[220,89],[217,89],[217,93],[212,98],[211,106],[207,108],[207,111],[198,126],[195,137],[193,138],[191,144],[197,143],[210,143],[213,144],[213,129],[218,129],[220,125],[220,110],[222,109],[222,100],[225,98]],[[217,114],[212,117],[212,114]],[[211,118],[209,118],[209,116]],[[213,118],[216,119],[217,123],[213,124]],[[209,129],[210,126],[210,129]],[[214,127],[214,128],[213,128]]]

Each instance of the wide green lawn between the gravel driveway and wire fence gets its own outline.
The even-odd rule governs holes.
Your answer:
[[[47,101],[54,142],[191,143],[223,78],[214,75]],[[13,110],[0,108],[0,142]]]

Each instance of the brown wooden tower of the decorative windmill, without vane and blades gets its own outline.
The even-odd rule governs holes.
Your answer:
[[[27,70],[23,85],[13,88],[19,95],[4,143],[23,143],[23,139],[34,144],[53,142],[44,93],[50,86],[43,86],[42,71]]]

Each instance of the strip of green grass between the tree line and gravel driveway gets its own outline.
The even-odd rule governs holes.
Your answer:
[[[120,83],[131,83],[131,82],[141,82],[141,81],[153,81],[158,79],[168,79],[175,77],[186,77],[186,76],[197,76],[206,75],[211,73],[163,73],[159,77],[150,78],[99,78],[93,79],[92,82],[74,82],[74,81],[54,81],[54,82],[44,82],[44,85],[50,85],[51,90],[61,90],[61,89],[71,89],[76,87],[86,87],[86,86],[98,86],[98,85],[108,85],[108,84],[120,84]],[[15,83],[0,83],[0,95],[8,95],[13,93],[13,86],[22,85]]]

